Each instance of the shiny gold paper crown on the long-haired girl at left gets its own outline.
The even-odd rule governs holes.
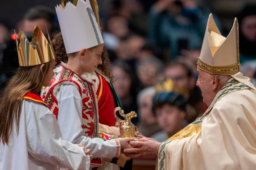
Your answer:
[[[21,30],[21,28],[19,28],[19,38],[15,38],[20,66],[40,65],[43,63],[47,63],[48,61],[51,61],[55,58],[49,34],[48,42],[45,36],[43,35],[42,30],[38,28],[36,25],[34,28],[34,33],[31,41],[36,43],[35,48],[31,46],[30,42],[28,41],[26,35]]]

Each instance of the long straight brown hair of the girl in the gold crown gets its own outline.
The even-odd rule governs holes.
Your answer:
[[[20,66],[16,74],[7,84],[1,98],[0,105],[0,140],[3,144],[9,143],[14,120],[16,131],[19,133],[19,120],[21,116],[22,101],[27,93],[38,93],[43,87],[50,62],[45,63],[42,71],[41,65]]]

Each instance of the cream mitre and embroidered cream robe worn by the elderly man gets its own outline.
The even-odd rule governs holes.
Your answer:
[[[202,117],[166,140],[158,151],[158,170],[250,170],[256,167],[256,88],[239,63],[238,21],[227,38],[212,15],[197,67],[232,78]]]

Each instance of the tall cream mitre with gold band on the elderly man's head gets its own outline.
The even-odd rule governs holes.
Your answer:
[[[215,75],[234,75],[240,71],[237,18],[225,38],[210,14],[197,67]]]

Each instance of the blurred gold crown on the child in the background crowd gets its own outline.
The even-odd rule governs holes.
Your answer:
[[[177,87],[171,79],[166,79],[162,83],[157,83],[155,85],[155,91],[156,92],[176,92],[181,94],[184,98],[187,98],[189,96],[189,93],[187,92],[186,88],[179,88]]]

